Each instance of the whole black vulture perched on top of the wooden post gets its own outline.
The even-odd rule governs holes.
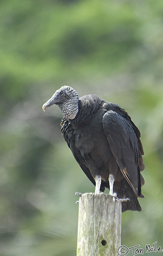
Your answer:
[[[145,166],[140,131],[118,104],[96,95],[78,98],[74,89],[63,86],[43,104],[56,104],[64,117],[61,132],[77,163],[95,185],[95,193],[110,189],[122,202],[122,211],[141,211],[138,197]]]

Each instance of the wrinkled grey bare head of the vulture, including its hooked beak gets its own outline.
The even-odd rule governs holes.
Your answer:
[[[74,119],[78,112],[78,95],[69,86],[63,86],[43,104],[42,110],[45,111],[49,106],[56,104],[61,109],[67,119]]]

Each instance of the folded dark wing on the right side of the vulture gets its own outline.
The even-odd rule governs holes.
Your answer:
[[[102,124],[112,154],[117,161],[123,177],[134,193],[140,196],[141,176],[139,154],[142,148],[140,148],[140,139],[133,129],[132,122],[130,122],[129,118],[126,119],[119,113],[111,110],[104,114]]]

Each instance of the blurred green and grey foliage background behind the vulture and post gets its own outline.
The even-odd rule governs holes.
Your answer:
[[[162,15],[162,0],[1,0],[1,256],[75,255],[74,194],[94,186],[60,110],[41,110],[66,84],[119,103],[141,130],[146,199],[122,215],[122,244],[163,249]]]

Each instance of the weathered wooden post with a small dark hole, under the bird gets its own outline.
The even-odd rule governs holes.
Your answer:
[[[121,210],[121,202],[104,193],[79,198],[77,256],[117,256]]]

